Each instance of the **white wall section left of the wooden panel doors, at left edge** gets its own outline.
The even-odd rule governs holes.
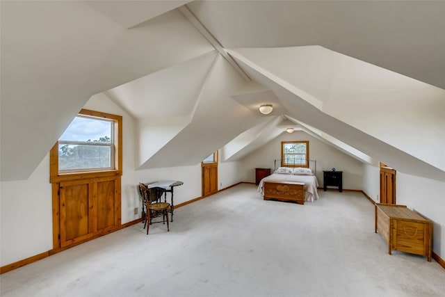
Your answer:
[[[49,154],[29,179],[0,185],[0,266],[53,248]]]

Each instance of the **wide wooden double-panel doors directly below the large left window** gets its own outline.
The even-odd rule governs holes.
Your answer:
[[[120,225],[120,177],[59,184],[60,247],[105,234]]]

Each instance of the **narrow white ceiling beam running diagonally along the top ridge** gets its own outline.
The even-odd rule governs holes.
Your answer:
[[[216,40],[216,38],[209,32],[209,30],[207,30],[207,28],[204,27],[204,25],[200,22],[200,20],[197,19],[195,15],[193,15],[191,10],[188,9],[186,5],[179,6],[178,9],[184,15],[184,17],[188,19],[188,22],[191,22],[191,24],[195,26],[197,31],[199,31],[204,36],[204,38],[206,38],[210,42],[210,44],[221,54],[221,56],[223,56],[227,60],[227,62],[229,62],[229,64],[232,65],[232,67],[234,67],[234,69],[241,75],[241,77],[243,77],[246,81],[252,80],[250,79],[248,74],[246,74],[241,69],[241,67],[239,67],[238,63],[236,63],[234,58],[232,58],[232,56],[230,56],[227,53],[227,51],[225,51],[223,46],[220,45],[220,42],[218,42],[218,40]]]

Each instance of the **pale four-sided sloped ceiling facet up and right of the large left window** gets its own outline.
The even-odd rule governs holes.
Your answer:
[[[212,51],[104,93],[138,120],[191,115],[215,58]]]

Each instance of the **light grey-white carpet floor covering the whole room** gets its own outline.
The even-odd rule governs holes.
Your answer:
[[[305,205],[239,184],[175,210],[170,232],[138,223],[3,273],[1,296],[445,296],[445,269],[388,255],[362,193]]]

